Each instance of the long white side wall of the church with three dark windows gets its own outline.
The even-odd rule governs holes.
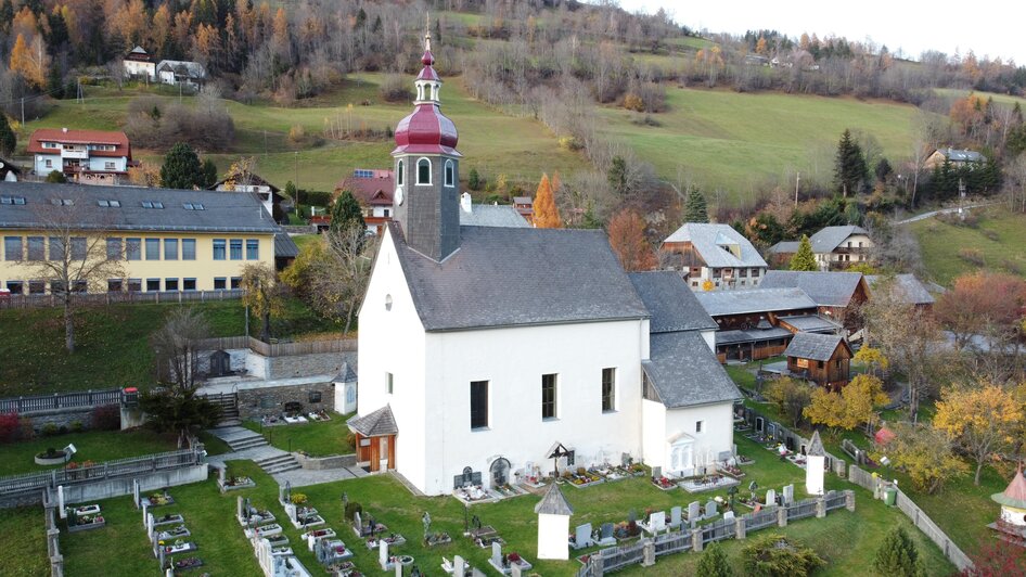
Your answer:
[[[488,469],[499,457],[510,461],[511,474],[528,461],[548,469],[547,451],[556,441],[576,450],[577,466],[588,466],[600,451],[612,461],[621,452],[639,457],[643,326],[630,320],[428,333],[427,394],[421,397],[429,425],[427,470],[419,486],[428,495],[449,492],[465,466],[480,471],[488,485]],[[616,410],[607,413],[603,368],[617,369]],[[559,374],[559,416],[543,421],[547,373]],[[471,431],[472,381],[490,382],[487,429]]]

